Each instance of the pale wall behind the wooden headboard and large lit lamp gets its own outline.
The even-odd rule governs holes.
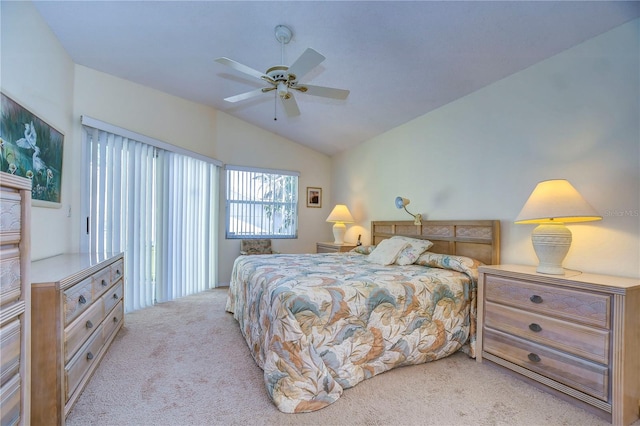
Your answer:
[[[569,225],[566,268],[640,277],[639,22],[536,64],[333,159],[333,195],[371,220],[500,219],[502,263],[537,264],[513,220],[536,183],[568,179],[604,216]]]

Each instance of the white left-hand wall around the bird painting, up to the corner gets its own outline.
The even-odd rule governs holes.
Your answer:
[[[32,209],[34,259],[69,251],[74,203],[70,174],[75,135],[72,127],[73,62],[53,37],[31,2],[0,2],[2,92],[65,135],[62,207]]]

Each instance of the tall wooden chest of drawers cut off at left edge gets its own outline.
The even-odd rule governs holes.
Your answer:
[[[30,424],[31,180],[0,172],[0,424]]]

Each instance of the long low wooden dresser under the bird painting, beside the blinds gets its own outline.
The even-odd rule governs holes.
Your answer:
[[[31,264],[33,424],[64,424],[124,319],[122,254]]]

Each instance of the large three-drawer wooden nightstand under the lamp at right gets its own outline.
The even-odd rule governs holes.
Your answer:
[[[616,424],[640,416],[640,280],[480,268],[477,360]]]

